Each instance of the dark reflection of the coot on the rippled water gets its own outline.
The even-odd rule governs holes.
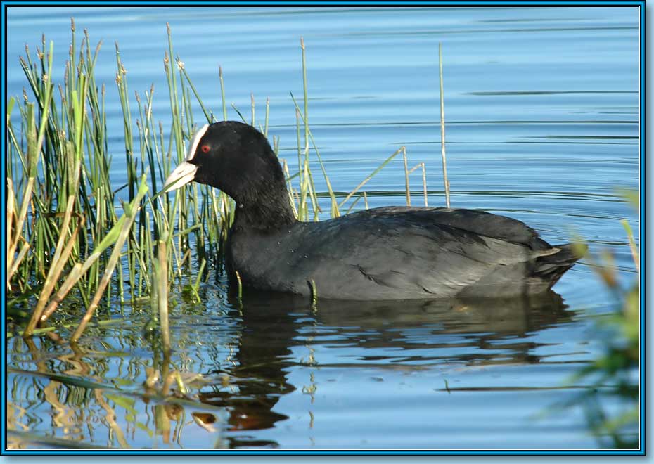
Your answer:
[[[340,363],[341,368],[360,368],[366,363],[379,368],[418,362],[425,366],[425,361],[538,363],[539,357],[532,354],[537,344],[527,340],[527,335],[570,321],[573,315],[553,291],[520,298],[319,299],[314,305],[293,295],[247,292],[241,302],[232,299],[231,304],[233,316],[241,318],[241,340],[236,365],[219,369],[229,375],[231,385],[201,396],[201,401],[229,411],[230,447],[277,445],[255,439],[247,430],[274,427],[288,418],[274,408],[283,395],[295,390],[288,382],[290,368],[307,363],[293,354],[293,347],[311,347],[312,335],[328,333],[330,347],[338,349],[370,349],[371,356]],[[444,355],[439,350],[444,347],[461,350],[453,355],[448,349]],[[383,354],[391,351],[392,361],[383,360]]]

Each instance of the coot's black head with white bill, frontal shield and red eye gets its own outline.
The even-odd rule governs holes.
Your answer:
[[[255,226],[294,220],[279,161],[266,137],[248,124],[214,122],[198,130],[164,192],[191,181],[229,195]]]

